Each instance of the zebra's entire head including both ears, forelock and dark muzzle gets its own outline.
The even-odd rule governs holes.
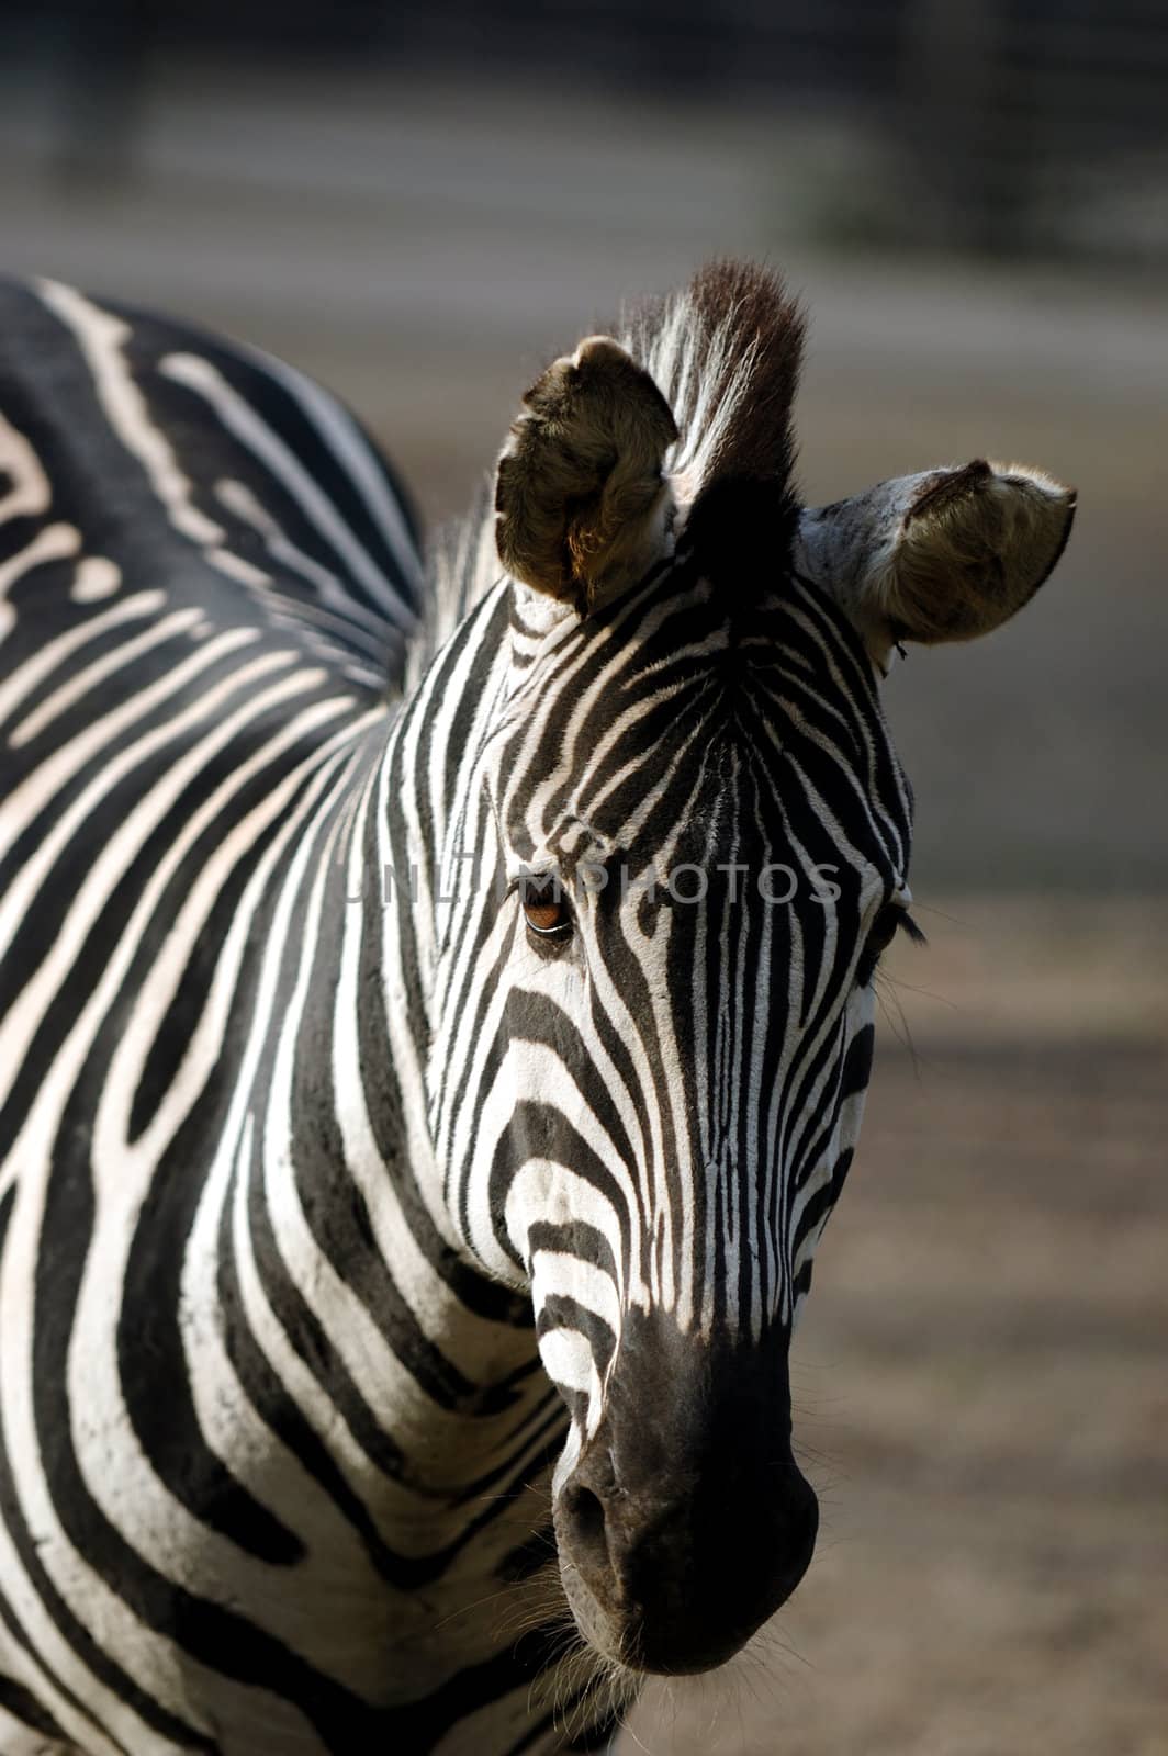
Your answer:
[[[977,462],[803,511],[797,349],[780,286],[720,267],[557,360],[499,467],[474,1206],[571,1414],[573,1616],[646,1672],[727,1659],[815,1542],[789,1340],[913,931],[882,676],[1013,615],[1073,509]]]

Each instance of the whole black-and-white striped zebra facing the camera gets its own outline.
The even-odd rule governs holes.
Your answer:
[[[0,1747],[606,1747],[810,1563],[882,685],[1075,497],[803,507],[750,263],[557,358],[425,562],[290,367],[53,281],[0,335]]]

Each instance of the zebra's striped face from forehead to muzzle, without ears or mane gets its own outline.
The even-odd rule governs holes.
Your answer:
[[[810,1558],[787,1343],[859,1131],[910,801],[873,667],[813,587],[731,609],[689,555],[583,622],[520,595],[469,1205],[530,1282],[573,1415],[581,1630],[704,1668]],[[694,1593],[713,1624],[662,1608]]]

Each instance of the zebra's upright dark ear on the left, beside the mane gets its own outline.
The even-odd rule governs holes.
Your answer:
[[[495,543],[515,579],[587,615],[666,551],[667,448],[678,437],[653,379],[590,335],[536,379],[499,458]]]

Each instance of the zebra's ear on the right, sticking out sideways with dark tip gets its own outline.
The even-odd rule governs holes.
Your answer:
[[[1006,622],[1049,576],[1073,516],[1073,488],[977,460],[803,513],[796,565],[882,662],[896,641],[970,641]]]

